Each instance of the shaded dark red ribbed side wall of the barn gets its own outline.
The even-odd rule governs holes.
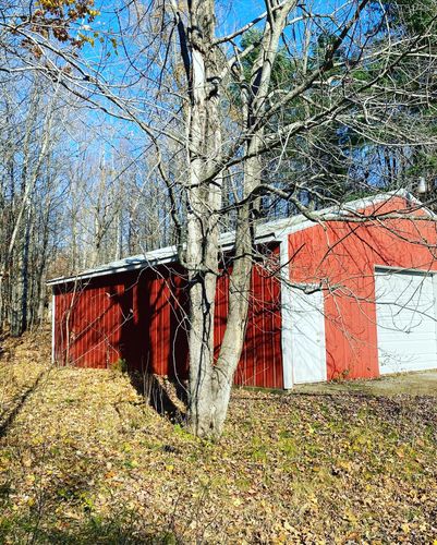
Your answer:
[[[216,355],[226,328],[228,282],[222,274],[216,298]],[[177,266],[60,286],[54,294],[57,362],[108,367],[124,359],[131,368],[186,378],[189,300],[183,271]],[[252,275],[246,339],[235,383],[283,386],[280,284],[262,265]]]

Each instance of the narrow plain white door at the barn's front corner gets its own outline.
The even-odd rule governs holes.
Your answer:
[[[324,294],[292,288],[289,304],[293,384],[326,380]]]

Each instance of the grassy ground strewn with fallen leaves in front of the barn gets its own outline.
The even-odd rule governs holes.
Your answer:
[[[213,445],[48,343],[3,343],[0,543],[437,543],[436,397],[238,390]]]

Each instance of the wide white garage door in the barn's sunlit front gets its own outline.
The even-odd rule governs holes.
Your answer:
[[[377,270],[375,288],[380,374],[437,367],[433,276]]]

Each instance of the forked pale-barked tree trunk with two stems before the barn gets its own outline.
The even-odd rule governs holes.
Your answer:
[[[251,88],[242,86],[243,130],[246,142],[243,201],[238,209],[235,259],[230,277],[227,328],[214,362],[214,313],[218,276],[221,177],[207,173],[221,159],[219,113],[220,70],[214,51],[214,0],[192,2],[190,46],[192,104],[190,110],[190,185],[187,189],[186,266],[190,280],[190,388],[189,424],[201,436],[221,435],[233,376],[243,349],[248,312],[254,249],[256,190],[260,183],[259,149],[271,69],[278,43],[293,0],[278,3],[266,22],[259,55],[253,65]],[[217,170],[217,168],[216,168]]]

